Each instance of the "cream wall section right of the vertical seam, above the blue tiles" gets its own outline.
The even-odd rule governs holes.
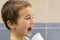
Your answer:
[[[48,0],[48,22],[60,23],[60,0]]]

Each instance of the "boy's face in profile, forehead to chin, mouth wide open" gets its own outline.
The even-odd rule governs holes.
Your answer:
[[[26,7],[19,12],[17,25],[15,25],[15,31],[20,35],[29,36],[33,27],[32,8]]]

